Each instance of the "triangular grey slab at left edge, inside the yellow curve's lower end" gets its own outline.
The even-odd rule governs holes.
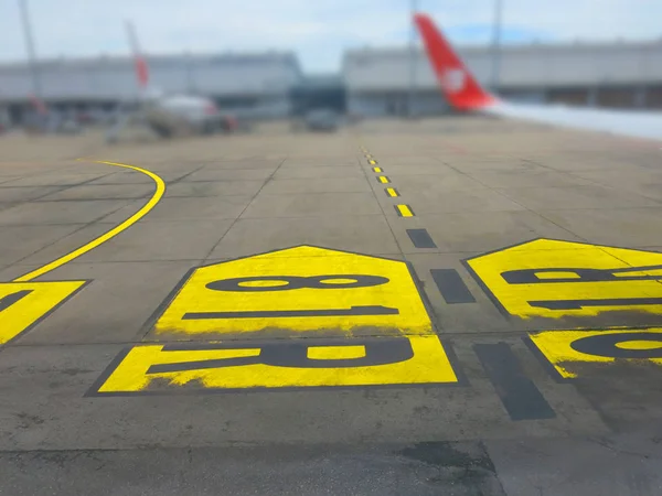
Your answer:
[[[0,227],[0,266],[30,258],[34,252],[57,244],[84,224]],[[64,254],[61,254],[64,255]]]

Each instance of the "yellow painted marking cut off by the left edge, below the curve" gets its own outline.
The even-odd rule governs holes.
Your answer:
[[[87,281],[1,282],[0,344],[30,328]]]

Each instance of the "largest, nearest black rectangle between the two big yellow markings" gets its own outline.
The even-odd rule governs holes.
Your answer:
[[[473,352],[512,420],[554,419],[556,412],[506,343],[476,344]]]

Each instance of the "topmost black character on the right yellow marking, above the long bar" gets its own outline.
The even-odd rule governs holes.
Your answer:
[[[607,281],[651,281],[662,279],[662,274],[643,274],[643,276],[617,276],[629,272],[644,272],[649,270],[662,270],[662,266],[647,267],[628,267],[624,269],[520,269],[508,270],[501,276],[509,284],[535,284],[535,283],[552,283],[552,282],[607,282]],[[538,274],[554,274],[559,277],[540,278]],[[567,277],[568,273],[574,277]],[[564,277],[565,276],[565,277]]]

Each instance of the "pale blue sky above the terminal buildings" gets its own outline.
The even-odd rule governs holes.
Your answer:
[[[18,3],[0,1],[0,61],[25,57]],[[402,46],[409,0],[26,0],[39,57],[295,51],[303,71],[340,69],[348,48]],[[504,43],[662,37],[660,0],[502,0]],[[417,0],[458,44],[492,37],[495,0]]]

